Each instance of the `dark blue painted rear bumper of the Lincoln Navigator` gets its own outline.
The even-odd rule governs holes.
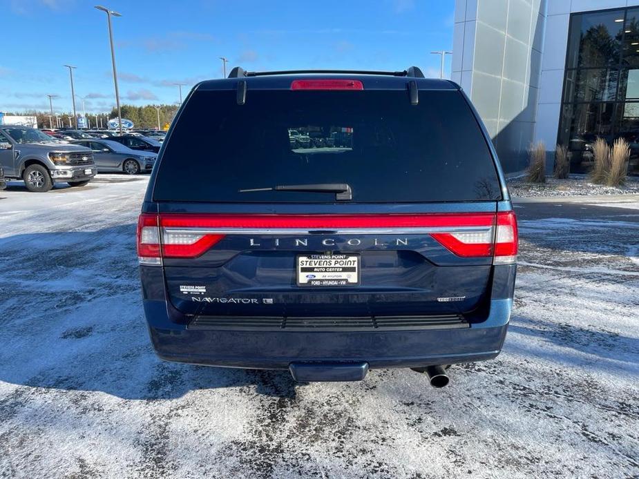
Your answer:
[[[164,301],[144,300],[151,341],[163,360],[249,369],[292,362],[366,362],[370,369],[454,364],[495,358],[513,300],[492,300],[486,321],[422,331],[221,331],[187,329]]]

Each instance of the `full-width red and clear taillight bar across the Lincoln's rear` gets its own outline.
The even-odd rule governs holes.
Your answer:
[[[193,215],[143,213],[137,223],[140,264],[162,265],[163,257],[198,257],[227,234],[264,230],[421,230],[461,257],[490,257],[494,264],[517,261],[517,220],[504,213],[387,215]],[[419,233],[415,231],[415,233]],[[252,234],[252,233],[251,233]],[[283,233],[289,234],[289,233]],[[292,233],[291,233],[292,234]],[[297,234],[297,233],[296,233]],[[410,233],[409,233],[410,234]]]

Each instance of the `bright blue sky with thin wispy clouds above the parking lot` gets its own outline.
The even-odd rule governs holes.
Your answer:
[[[439,76],[431,50],[452,48],[453,0],[0,0],[0,111],[71,110],[68,70],[87,111],[115,104],[103,3],[113,19],[122,103],[178,101],[228,68],[402,70]],[[450,75],[450,56],[446,59]],[[82,109],[82,102],[77,101]]]

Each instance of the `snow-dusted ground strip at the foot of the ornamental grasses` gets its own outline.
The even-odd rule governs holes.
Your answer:
[[[506,183],[515,198],[639,195],[638,177],[628,177],[620,188],[593,184],[586,175],[570,175],[568,179],[546,177],[546,183],[529,183],[525,175],[520,175],[506,179]]]

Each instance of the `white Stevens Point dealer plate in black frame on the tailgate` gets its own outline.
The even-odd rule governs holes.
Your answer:
[[[320,263],[315,265],[303,263],[308,260]],[[350,264],[353,260],[354,266]],[[305,271],[303,271],[303,268]],[[326,271],[327,268],[330,268],[330,271]],[[346,271],[344,271],[345,268],[347,268]],[[352,271],[353,269],[354,271]],[[361,284],[361,255],[354,253],[297,255],[295,260],[295,280],[297,286],[304,288],[347,288],[349,286],[359,286]]]

